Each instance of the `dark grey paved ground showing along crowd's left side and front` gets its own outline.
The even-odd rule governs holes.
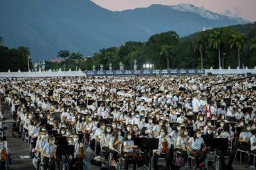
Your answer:
[[[6,121],[3,124],[3,126],[8,127],[6,129],[6,138],[8,141],[8,147],[11,151],[11,158],[12,158],[12,164],[10,164],[10,169],[13,170],[33,170],[33,164],[32,159],[21,159],[20,156],[28,156],[28,143],[24,143],[21,138],[13,138],[12,137],[12,123],[13,121],[10,120],[10,116],[4,114],[6,117]],[[159,164],[164,164],[163,160],[159,160]],[[243,170],[248,169],[248,165],[246,165],[244,162],[240,165],[239,162],[235,161],[233,164],[233,167],[237,170]],[[97,170],[100,169],[100,167],[93,166],[92,164],[89,164],[89,170]],[[132,167],[129,167],[129,169],[132,169]],[[153,168],[152,168],[153,169]],[[185,168],[183,168],[185,169]]]

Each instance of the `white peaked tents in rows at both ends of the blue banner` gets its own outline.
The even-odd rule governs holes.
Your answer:
[[[256,74],[256,66],[253,69],[248,69],[248,67],[244,69],[231,69],[228,67],[228,69],[213,69],[212,67],[208,70],[205,70],[205,74]],[[86,76],[82,70],[78,71],[62,71],[61,69],[57,72],[53,72],[51,69],[47,70],[46,72],[21,72],[18,70],[18,72],[0,72],[1,78],[12,78],[12,77],[62,77],[62,76]]]

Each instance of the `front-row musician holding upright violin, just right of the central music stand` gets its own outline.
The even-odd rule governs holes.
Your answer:
[[[172,151],[170,151],[172,147],[172,140],[169,136],[167,136],[167,131],[165,128],[162,128],[160,131],[160,136],[157,137],[159,139],[158,149],[154,151],[153,160],[154,160],[154,169],[157,170],[157,161],[159,158],[165,158],[166,164],[165,167],[170,169],[170,165],[172,164]]]

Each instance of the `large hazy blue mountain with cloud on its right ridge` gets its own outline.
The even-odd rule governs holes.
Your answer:
[[[186,4],[112,12],[89,0],[0,1],[4,45],[30,47],[33,61],[54,59],[60,50],[91,55],[126,41],[146,41],[168,30],[186,36],[203,28],[239,23],[247,21]]]

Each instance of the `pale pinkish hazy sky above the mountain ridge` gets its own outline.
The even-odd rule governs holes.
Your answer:
[[[103,8],[113,11],[148,7],[152,4],[169,6],[179,3],[191,3],[204,7],[212,12],[242,17],[249,21],[256,21],[256,0],[91,0]]]

